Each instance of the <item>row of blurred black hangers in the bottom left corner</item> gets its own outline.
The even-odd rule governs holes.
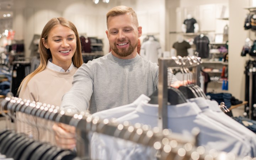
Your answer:
[[[74,151],[39,142],[13,130],[0,132],[0,153],[14,160],[81,160]]]

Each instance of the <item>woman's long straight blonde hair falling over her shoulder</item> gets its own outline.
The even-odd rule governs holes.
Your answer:
[[[80,43],[79,34],[78,34],[78,31],[77,31],[75,25],[63,17],[52,18],[44,26],[41,37],[40,37],[40,41],[39,41],[40,64],[36,70],[34,70],[31,74],[27,75],[22,80],[22,82],[18,88],[17,96],[18,96],[18,94],[20,94],[21,88],[25,89],[28,82],[31,80],[31,78],[34,75],[36,75],[37,73],[43,71],[46,68],[48,60],[50,58],[52,58],[50,49],[47,49],[46,47],[44,47],[42,38],[44,38],[45,41],[47,42],[47,38],[48,38],[50,31],[52,30],[53,27],[55,27],[57,25],[62,25],[62,26],[68,27],[72,31],[74,31],[75,36],[76,36],[76,50],[72,57],[72,62],[74,64],[74,66],[76,66],[77,68],[79,68],[82,65],[83,60],[82,60],[82,52],[81,52],[81,43]]]

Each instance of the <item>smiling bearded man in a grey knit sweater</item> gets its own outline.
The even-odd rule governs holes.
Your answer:
[[[106,34],[112,51],[83,64],[78,69],[74,75],[73,87],[63,96],[61,107],[64,110],[73,112],[89,110],[92,114],[127,105],[141,94],[150,96],[157,90],[158,65],[137,54],[142,27],[138,24],[134,10],[127,6],[111,9],[107,13],[107,29]],[[174,75],[169,76],[169,82],[176,80]],[[62,128],[65,127],[54,126],[56,135],[69,138],[70,143],[65,144],[65,147],[74,146],[75,141],[69,137],[71,134],[66,132],[68,130],[74,133],[74,130],[67,128],[60,130]],[[57,139],[62,145],[59,137]]]

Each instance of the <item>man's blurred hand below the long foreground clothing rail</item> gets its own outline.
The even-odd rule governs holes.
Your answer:
[[[57,145],[63,149],[73,150],[76,146],[75,127],[63,123],[53,125]]]

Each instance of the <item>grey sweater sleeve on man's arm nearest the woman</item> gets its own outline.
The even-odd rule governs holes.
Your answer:
[[[65,111],[71,109],[71,112],[79,113],[88,110],[94,84],[94,72],[88,65],[90,63],[82,64],[76,71],[73,86],[62,97],[60,107],[63,107]]]

